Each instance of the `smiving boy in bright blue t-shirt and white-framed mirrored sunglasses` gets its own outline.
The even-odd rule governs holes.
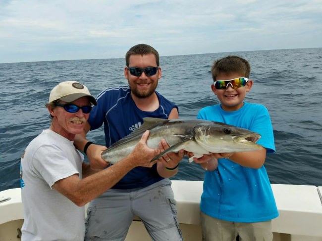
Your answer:
[[[274,136],[266,107],[244,102],[253,85],[249,75],[250,65],[241,57],[216,60],[211,88],[220,104],[201,109],[197,116],[255,131],[262,135],[257,143],[265,147],[211,154],[218,159],[216,169],[213,161],[202,163],[203,158],[199,159],[208,170],[200,203],[203,241],[273,239],[270,220],[278,211],[264,162],[266,154],[275,152]]]

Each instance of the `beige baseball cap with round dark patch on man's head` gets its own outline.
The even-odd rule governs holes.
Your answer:
[[[49,102],[55,100],[62,100],[70,103],[81,97],[88,96],[93,105],[97,105],[96,99],[91,95],[88,88],[75,80],[68,80],[58,83],[51,94],[49,95]]]

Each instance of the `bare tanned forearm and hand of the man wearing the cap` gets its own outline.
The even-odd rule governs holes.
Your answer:
[[[146,131],[132,153],[109,168],[98,171],[84,179],[79,179],[78,175],[74,174],[55,182],[53,188],[76,205],[85,205],[114,186],[134,167],[151,167],[155,164],[150,160],[160,154],[161,151],[151,149],[146,145],[148,136],[149,131]],[[88,166],[85,165],[85,167],[87,168]]]

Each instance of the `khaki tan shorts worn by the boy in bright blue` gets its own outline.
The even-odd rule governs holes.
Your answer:
[[[271,221],[256,223],[228,222],[213,218],[201,212],[203,241],[272,241]]]

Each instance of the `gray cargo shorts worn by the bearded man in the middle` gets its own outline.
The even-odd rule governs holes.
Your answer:
[[[154,241],[182,241],[171,181],[142,189],[110,189],[87,209],[85,241],[124,241],[134,215]]]

